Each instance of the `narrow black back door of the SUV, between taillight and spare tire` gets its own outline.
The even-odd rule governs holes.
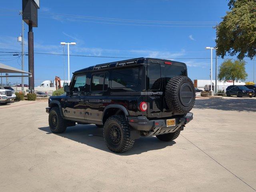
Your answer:
[[[161,65],[158,63],[148,64],[147,90],[148,90],[148,118],[162,118],[163,92],[161,78]]]

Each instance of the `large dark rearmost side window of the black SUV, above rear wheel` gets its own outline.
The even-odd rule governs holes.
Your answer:
[[[112,72],[112,88],[133,88],[138,86],[139,68],[114,70]]]

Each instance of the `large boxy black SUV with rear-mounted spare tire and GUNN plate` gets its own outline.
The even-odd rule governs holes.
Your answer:
[[[195,89],[186,64],[170,60],[136,58],[90,66],[73,73],[66,95],[51,96],[50,130],[68,126],[103,126],[113,152],[132,148],[140,136],[162,141],[176,139],[193,119]]]

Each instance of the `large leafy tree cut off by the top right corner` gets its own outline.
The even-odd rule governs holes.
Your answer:
[[[229,0],[230,11],[217,26],[217,55],[251,59],[256,55],[256,0]]]

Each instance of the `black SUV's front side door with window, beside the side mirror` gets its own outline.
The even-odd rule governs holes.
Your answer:
[[[86,74],[74,76],[70,86],[70,93],[65,98],[65,116],[69,118],[85,119],[84,100],[86,98]]]

